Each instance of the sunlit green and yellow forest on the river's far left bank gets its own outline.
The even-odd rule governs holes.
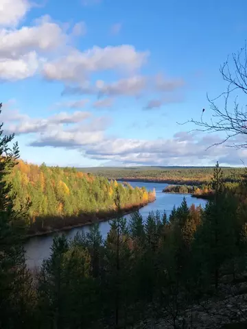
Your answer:
[[[16,161],[6,181],[16,195],[14,209],[29,204],[26,225],[29,234],[47,232],[113,217],[116,211],[137,209],[155,199],[155,191],[132,188],[73,168],[47,167]],[[121,196],[115,206],[116,190]]]

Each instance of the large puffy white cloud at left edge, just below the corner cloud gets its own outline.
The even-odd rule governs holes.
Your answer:
[[[3,10],[4,5],[5,2]],[[12,9],[14,11],[15,7]],[[79,28],[80,25],[75,25],[74,32],[79,32]],[[49,16],[36,19],[32,26],[0,29],[0,79],[14,81],[32,77],[51,53],[69,48],[69,40],[64,28],[51,21]]]

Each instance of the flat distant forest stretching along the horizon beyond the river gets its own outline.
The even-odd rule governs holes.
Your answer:
[[[92,167],[77,170],[115,180],[186,185],[209,184],[213,177],[213,167]],[[224,182],[240,182],[243,174],[244,168],[222,168]]]

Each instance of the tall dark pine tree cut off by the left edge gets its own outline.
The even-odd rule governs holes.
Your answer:
[[[15,143],[10,149],[14,134],[4,136],[2,127],[3,123],[0,125],[0,327],[27,328],[25,297],[30,277],[22,246],[27,205],[14,210],[15,195],[7,178],[19,158],[19,148]]]

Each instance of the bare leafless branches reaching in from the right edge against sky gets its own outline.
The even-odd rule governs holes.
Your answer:
[[[238,95],[240,92],[244,95],[247,94],[247,45],[245,43],[244,48],[240,49],[238,53],[233,53],[232,56],[227,58],[226,62],[220,67],[220,73],[223,80],[228,82],[226,91],[221,93],[214,99],[207,99],[209,101],[209,107],[213,112],[209,121],[204,120],[204,110],[199,120],[191,119],[185,123],[178,123],[185,125],[187,123],[193,123],[198,126],[198,129],[191,131],[200,132],[224,132],[226,137],[222,139],[220,143],[213,145],[222,145],[227,141],[231,144],[229,147],[235,147],[242,149],[247,147],[247,105],[239,106]],[[232,96],[237,93],[234,101],[231,103]],[[217,100],[222,100],[224,105],[217,105]],[[241,138],[237,138],[241,137]],[[246,139],[246,141],[244,140]],[[211,145],[211,146],[213,146]],[[209,149],[210,147],[208,147]]]

